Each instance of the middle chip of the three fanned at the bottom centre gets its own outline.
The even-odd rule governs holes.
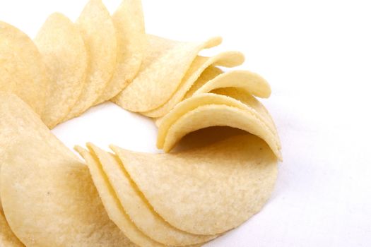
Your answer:
[[[129,174],[127,174],[124,166],[115,155],[109,154],[91,143],[88,144],[88,147],[90,152],[93,152],[98,157],[105,176],[107,176],[131,221],[151,239],[167,246],[186,246],[204,243],[216,238],[214,235],[189,234],[172,227],[148,204],[146,198],[144,198],[135,183],[131,181]]]

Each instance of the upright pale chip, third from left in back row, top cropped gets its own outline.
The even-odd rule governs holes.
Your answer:
[[[83,91],[64,120],[81,115],[98,100],[117,66],[117,33],[101,0],[90,0],[76,21],[88,51]]]

